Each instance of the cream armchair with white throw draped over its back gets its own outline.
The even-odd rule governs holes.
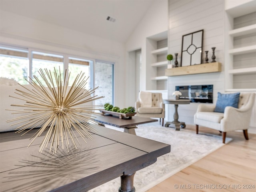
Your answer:
[[[164,103],[162,93],[152,93],[141,91],[138,100],[135,102],[136,116],[148,118],[162,118],[162,126],[164,126]]]

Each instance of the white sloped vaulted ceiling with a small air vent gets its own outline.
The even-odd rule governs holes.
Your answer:
[[[155,1],[0,0],[0,10],[124,43]]]

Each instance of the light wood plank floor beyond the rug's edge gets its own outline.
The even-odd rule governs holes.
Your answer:
[[[186,129],[195,131],[195,126]],[[220,135],[202,126],[200,132]],[[245,140],[243,132],[227,132],[230,143],[147,192],[256,192],[256,134],[248,136]]]

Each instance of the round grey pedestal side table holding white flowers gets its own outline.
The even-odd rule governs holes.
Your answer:
[[[178,115],[178,105],[179,104],[190,104],[190,100],[189,99],[179,99],[179,100],[174,100],[174,99],[166,99],[164,100],[164,104],[174,104],[174,115],[173,118],[174,120],[172,122],[166,122],[166,124],[164,125],[165,127],[174,127],[175,130],[179,131],[180,127],[185,128],[186,124],[185,122],[179,122],[179,115]]]

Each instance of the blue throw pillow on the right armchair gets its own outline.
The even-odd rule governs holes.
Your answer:
[[[224,113],[226,106],[232,106],[238,108],[240,93],[231,93],[231,94],[221,94],[218,92],[218,99],[214,112]]]

